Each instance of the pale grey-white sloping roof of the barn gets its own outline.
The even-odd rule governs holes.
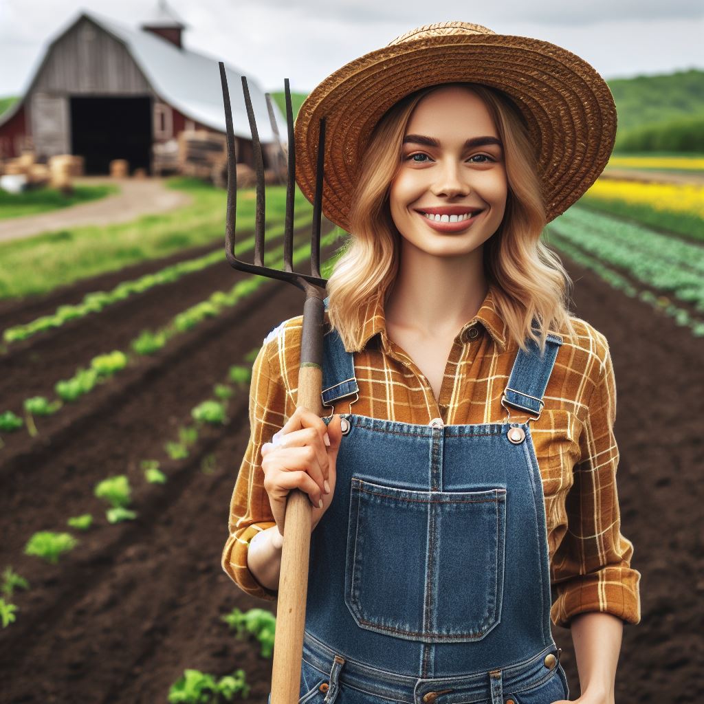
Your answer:
[[[94,11],[81,10],[77,18],[51,42],[51,45],[63,37],[73,25],[87,18],[111,34],[118,42],[124,44],[125,49],[142,70],[146,80],[149,81],[153,91],[159,98],[176,108],[186,118],[200,122],[201,125],[211,127],[213,130],[225,132],[225,106],[222,102],[222,85],[220,84],[220,67],[218,59],[199,54],[190,49],[179,48],[166,39],[156,36],[146,30],[130,27],[106,18]],[[44,60],[51,50],[51,45],[46,50]],[[23,92],[26,96],[30,91],[35,78],[42,70],[44,61],[31,77],[27,89]],[[227,87],[230,90],[230,103],[232,106],[232,126],[237,137],[251,139],[249,120],[247,120],[242,92],[241,73],[225,64]],[[282,79],[283,85],[283,79]],[[256,80],[247,76],[247,86],[252,101],[254,117],[256,118],[257,131],[262,142],[274,142],[275,135],[269,122],[269,113],[264,92]],[[0,116],[0,125],[9,120],[23,104],[24,99],[18,100],[12,108]],[[282,141],[287,142],[286,118],[282,115],[275,101],[272,101],[274,114],[279,127]]]

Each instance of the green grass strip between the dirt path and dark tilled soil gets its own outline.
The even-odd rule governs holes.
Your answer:
[[[0,299],[46,294],[65,284],[117,271],[144,260],[203,244],[225,244],[227,192],[197,179],[172,177],[170,188],[186,191],[189,206],[132,222],[91,225],[0,243]],[[283,222],[286,187],[266,189],[268,221]],[[313,212],[296,187],[294,213]],[[254,189],[237,193],[237,230],[253,230]],[[222,253],[223,261],[225,252]]]

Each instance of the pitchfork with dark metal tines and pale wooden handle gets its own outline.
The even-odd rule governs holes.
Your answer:
[[[322,415],[322,322],[323,298],[327,280],[320,275],[320,218],[322,213],[322,176],[325,155],[325,118],[320,120],[318,139],[318,165],[315,179],[313,203],[313,227],[310,238],[310,274],[294,272],[291,261],[294,239],[294,188],[296,186],[296,149],[294,146],[294,120],[291,109],[289,80],[284,80],[286,92],[286,120],[289,128],[288,177],[286,191],[286,221],[284,225],[284,270],[264,266],[264,165],[254,112],[249,97],[246,77],[242,76],[244,102],[249,118],[249,128],[254,146],[256,167],[256,222],[254,263],[239,260],[234,255],[235,208],[237,206],[237,168],[232,130],[230,92],[227,89],[225,65],[220,65],[222,99],[225,102],[225,125],[227,127],[227,222],[225,225],[225,255],[237,270],[260,274],[272,279],[281,279],[294,284],[306,293],[303,304],[303,331],[301,333],[301,361],[298,369],[298,394],[296,406],[308,408]],[[267,99],[269,96],[267,94]],[[270,111],[272,129],[275,134],[275,118]],[[317,287],[322,287],[320,291]],[[270,704],[296,704],[301,686],[301,661],[303,659],[303,629],[306,625],[306,596],[308,593],[308,562],[310,556],[310,501],[308,494],[300,489],[289,492],[282,548],[281,574],[279,577],[279,601],[277,606],[276,643],[272,667]]]

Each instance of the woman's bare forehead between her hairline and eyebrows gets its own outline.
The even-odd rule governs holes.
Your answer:
[[[418,101],[410,114],[406,134],[441,134],[467,132],[498,136],[494,120],[484,101],[472,90],[461,86],[447,86],[434,90]],[[470,132],[472,134],[470,134]]]

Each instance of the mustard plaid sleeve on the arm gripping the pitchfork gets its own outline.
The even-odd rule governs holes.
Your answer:
[[[250,596],[274,601],[277,591],[266,589],[247,565],[249,541],[258,532],[276,525],[269,496],[264,489],[261,448],[284,426],[286,389],[280,375],[272,372],[270,353],[275,339],[265,341],[252,366],[249,391],[249,442],[239,467],[230,501],[230,536],[222,551],[222,569]]]

